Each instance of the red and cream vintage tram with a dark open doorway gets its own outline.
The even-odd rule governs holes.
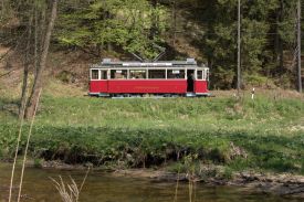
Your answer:
[[[99,97],[208,96],[209,68],[196,60],[171,62],[113,62],[90,68],[90,95]]]

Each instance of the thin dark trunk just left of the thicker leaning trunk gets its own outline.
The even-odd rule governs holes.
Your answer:
[[[31,36],[32,36],[32,17],[29,19],[29,35],[28,42],[25,46],[25,55],[24,55],[24,70],[23,70],[23,84],[21,92],[21,102],[19,107],[19,118],[24,117],[24,110],[27,106],[27,91],[28,91],[28,77],[29,77],[29,65],[30,65],[30,45],[31,45]]]

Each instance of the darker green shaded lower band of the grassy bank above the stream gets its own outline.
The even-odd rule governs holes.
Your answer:
[[[8,135],[14,137],[17,127],[0,125],[0,131],[7,131],[0,132],[1,147],[12,150],[12,139]],[[24,141],[22,140],[22,147]],[[300,173],[303,172],[304,164],[304,136],[301,134],[287,137],[176,128],[135,130],[36,126],[31,141],[30,151],[33,157],[63,160],[66,163],[92,162],[101,166],[119,162],[125,167],[138,168],[160,166],[193,155],[202,162],[211,161],[237,170],[262,169]],[[228,157],[231,151],[230,142],[243,148],[248,158]]]

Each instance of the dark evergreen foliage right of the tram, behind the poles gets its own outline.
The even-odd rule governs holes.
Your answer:
[[[277,73],[280,54],[285,46],[293,49],[295,40],[296,1],[256,0],[241,1],[241,59],[242,74]],[[282,3],[281,3],[282,2]],[[202,51],[210,64],[211,85],[214,88],[235,86],[237,70],[237,0],[218,0],[201,3],[205,13],[203,22],[208,24]],[[209,10],[209,8],[214,8]],[[281,49],[281,50],[280,50]],[[266,68],[265,68],[266,66]],[[286,71],[286,70],[285,70]],[[291,77],[290,77],[291,78]],[[244,85],[250,85],[243,81]],[[290,82],[289,82],[290,83]]]

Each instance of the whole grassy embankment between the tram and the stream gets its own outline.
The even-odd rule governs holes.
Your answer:
[[[249,96],[242,100],[232,96],[102,99],[45,93],[30,153],[115,168],[166,164],[177,171],[191,161],[198,173],[201,164],[219,166],[224,174],[240,170],[304,173],[303,99],[258,95],[252,102]],[[13,156],[18,135],[13,107],[8,107],[12,102],[6,96],[0,99],[2,159]],[[29,124],[24,136],[28,128]]]

